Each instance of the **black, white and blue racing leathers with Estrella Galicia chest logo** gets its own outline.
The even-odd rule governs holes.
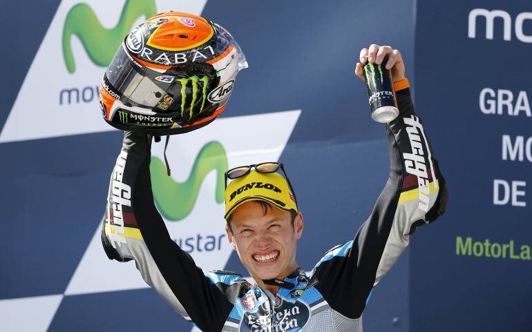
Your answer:
[[[297,269],[273,294],[241,275],[202,271],[175,244],[153,203],[151,137],[126,132],[111,175],[102,242],[110,259],[135,260],[146,283],[204,332],[362,331],[372,288],[395,264],[417,226],[444,213],[446,187],[415,115],[408,88],[386,125],[390,177],[354,239],[339,244],[310,273]]]

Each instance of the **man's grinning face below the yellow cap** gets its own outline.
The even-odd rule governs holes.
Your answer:
[[[275,206],[267,208],[258,202],[246,202],[231,215],[231,228],[226,227],[229,242],[240,261],[255,280],[280,279],[297,267],[296,242],[303,232],[303,215],[292,214]]]

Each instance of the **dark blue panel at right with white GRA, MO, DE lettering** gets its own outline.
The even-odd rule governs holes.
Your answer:
[[[532,326],[531,43],[524,2],[418,1],[416,106],[450,200],[412,241],[411,331]]]

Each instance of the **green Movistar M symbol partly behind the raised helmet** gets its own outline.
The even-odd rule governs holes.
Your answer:
[[[111,63],[120,42],[133,28],[135,21],[141,16],[147,19],[156,12],[154,0],[127,0],[117,25],[106,29],[86,3],[75,5],[66,15],[63,28],[63,56],[68,72],[76,70],[70,45],[73,35],[82,42],[91,61],[105,67]]]

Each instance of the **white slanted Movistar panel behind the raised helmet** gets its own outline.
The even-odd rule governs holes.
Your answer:
[[[206,2],[61,1],[3,126],[0,142],[114,130],[102,121],[99,86],[124,36],[158,12],[178,8],[199,15]],[[142,33],[132,34],[137,39],[129,38],[129,47],[142,48]]]

